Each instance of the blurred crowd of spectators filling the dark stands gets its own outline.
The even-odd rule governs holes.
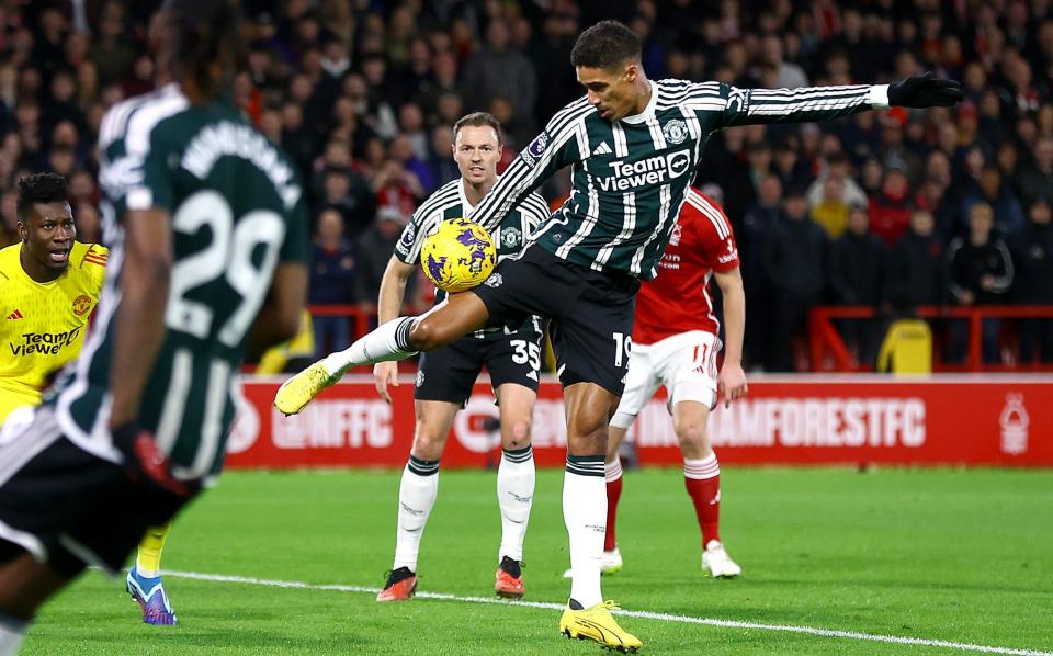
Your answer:
[[[68,177],[81,241],[100,239],[95,142],[107,108],[163,83],[149,56],[158,2],[0,0],[0,246],[15,183]],[[505,163],[580,95],[578,33],[623,20],[653,79],[738,87],[962,80],[956,109],[864,112],[714,135],[699,185],[723,202],[743,259],[746,358],[794,367],[817,304],[1053,304],[1053,3],[1048,0],[254,0],[235,101],[299,167],[315,230],[314,304],[375,309],[417,204],[457,176],[452,124],[505,126]],[[567,178],[541,190],[553,203]],[[418,284],[411,305],[429,302]],[[319,324],[319,351],[348,324]],[[854,330],[873,359],[875,324]],[[792,327],[790,330],[788,327]],[[846,328],[851,328],[847,326]],[[1053,320],[1019,324],[1020,361],[1053,361]],[[950,330],[950,359],[964,333]],[[1000,358],[987,321],[984,358]]]

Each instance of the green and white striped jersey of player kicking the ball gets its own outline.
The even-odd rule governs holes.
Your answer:
[[[734,125],[808,122],[887,106],[887,86],[737,89],[723,82],[652,82],[637,115],[609,122],[586,98],[556,113],[471,218],[492,229],[563,167],[571,192],[535,240],[595,270],[653,279],[710,136]]]

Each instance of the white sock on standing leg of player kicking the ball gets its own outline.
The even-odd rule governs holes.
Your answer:
[[[563,477],[563,521],[570,539],[570,598],[584,608],[603,601],[600,558],[607,533],[607,489],[602,455],[567,455]]]

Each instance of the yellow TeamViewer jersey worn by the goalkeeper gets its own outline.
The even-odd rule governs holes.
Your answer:
[[[75,241],[66,271],[38,283],[22,269],[21,248],[0,250],[0,423],[38,404],[47,376],[80,353],[110,252]]]

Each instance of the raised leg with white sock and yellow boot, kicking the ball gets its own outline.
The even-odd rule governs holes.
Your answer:
[[[274,396],[274,406],[285,415],[295,415],[352,366],[405,360],[419,351],[438,349],[484,327],[488,316],[486,306],[473,292],[451,294],[423,315],[382,324],[343,351],[331,353],[288,378]]]

